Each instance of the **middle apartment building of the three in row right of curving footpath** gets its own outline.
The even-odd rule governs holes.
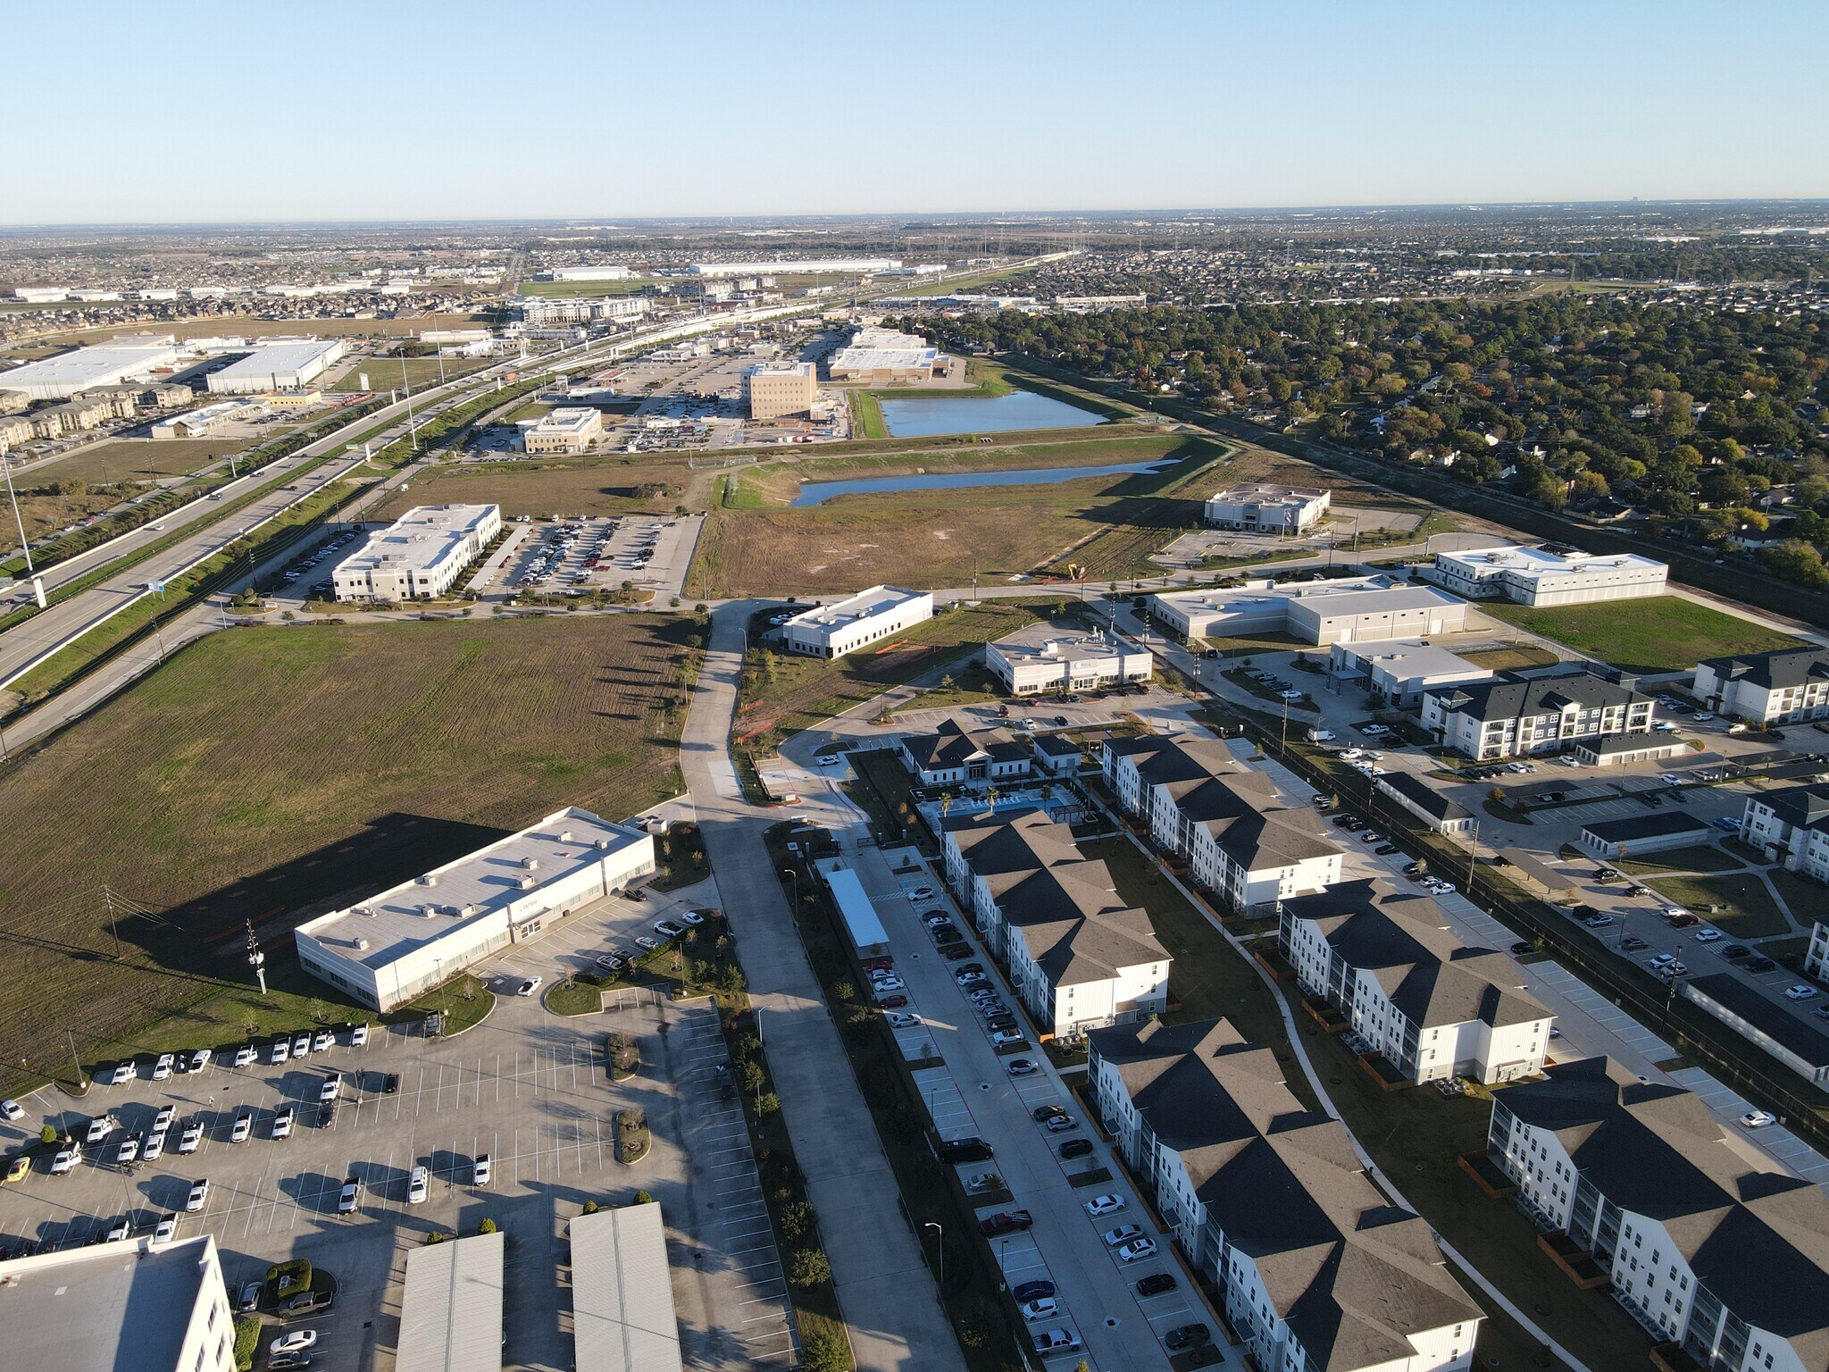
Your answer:
[[[1553,1015],[1518,964],[1449,933],[1434,900],[1359,880],[1282,902],[1277,946],[1410,1081],[1487,1085],[1544,1070]]]

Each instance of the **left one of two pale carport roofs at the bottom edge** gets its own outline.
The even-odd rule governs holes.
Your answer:
[[[395,1372],[501,1372],[501,1255],[508,1235],[406,1253]]]

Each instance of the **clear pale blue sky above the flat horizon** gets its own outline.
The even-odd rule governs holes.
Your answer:
[[[35,4],[5,223],[1829,196],[1824,0]]]

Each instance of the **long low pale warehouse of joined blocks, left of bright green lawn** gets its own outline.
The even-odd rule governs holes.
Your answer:
[[[1150,616],[1182,638],[1288,633],[1310,644],[1428,638],[1467,627],[1467,602],[1390,576],[1246,582],[1236,589],[1167,591]]]

